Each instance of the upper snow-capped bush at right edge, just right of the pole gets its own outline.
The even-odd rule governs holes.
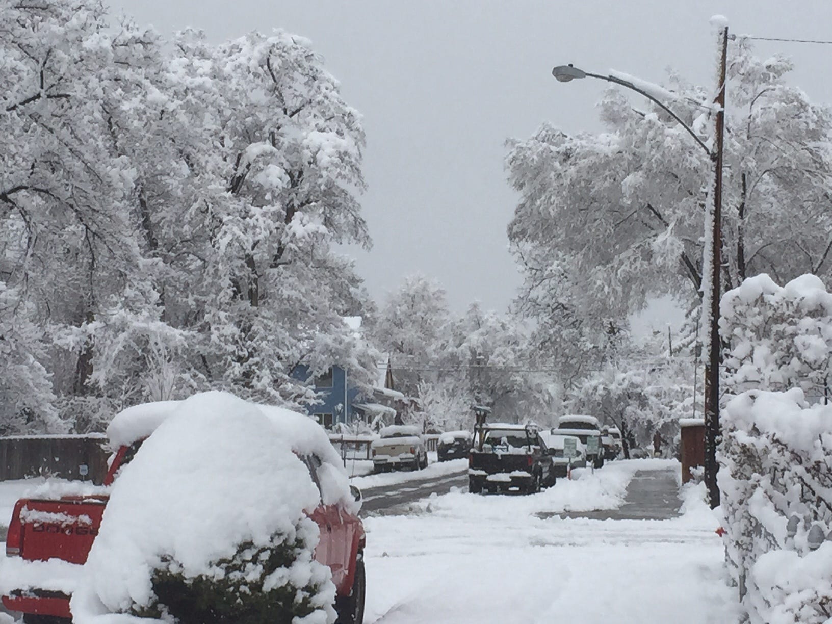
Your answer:
[[[816,275],[783,287],[757,275],[721,300],[720,330],[730,344],[726,389],[803,389],[825,394],[832,354],[832,294]]]

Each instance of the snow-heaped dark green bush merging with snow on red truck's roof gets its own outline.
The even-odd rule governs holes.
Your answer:
[[[128,443],[151,431],[112,486],[72,595],[75,622],[333,622],[307,513],[354,501],[324,430],[212,392],[126,410],[108,433]],[[299,457],[310,453],[324,462],[320,492]]]

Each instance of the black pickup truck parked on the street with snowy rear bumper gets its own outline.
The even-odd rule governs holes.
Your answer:
[[[468,491],[535,493],[555,483],[552,455],[532,425],[488,423],[474,429]]]

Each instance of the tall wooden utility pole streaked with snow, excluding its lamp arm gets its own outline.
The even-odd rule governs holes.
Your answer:
[[[711,17],[719,27],[719,55],[716,72],[716,119],[714,124],[714,186],[713,203],[706,211],[705,245],[702,266],[702,354],[705,362],[705,483],[711,508],[720,504],[720,488],[716,484],[716,446],[720,437],[720,274],[722,220],[722,145],[725,131],[726,57],[728,52],[728,21]]]

